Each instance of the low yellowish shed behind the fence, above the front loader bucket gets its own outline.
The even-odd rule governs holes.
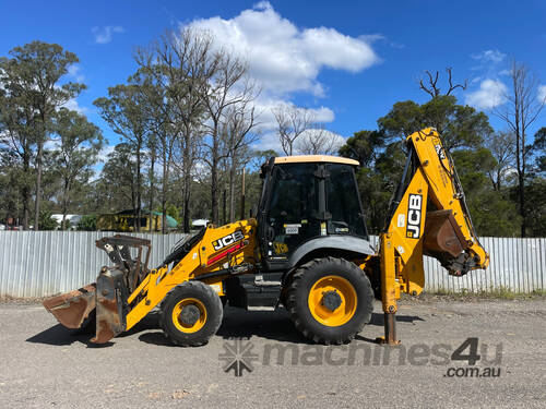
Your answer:
[[[166,216],[167,230],[175,230],[178,222],[174,217]],[[159,212],[141,210],[141,231],[162,231],[163,214]],[[135,215],[132,209],[103,214],[97,217],[97,230],[102,231],[135,231]]]

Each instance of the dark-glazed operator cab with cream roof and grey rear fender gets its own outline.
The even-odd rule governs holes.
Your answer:
[[[358,194],[358,161],[325,155],[271,158],[258,212],[265,270],[287,270],[329,249],[372,254]]]

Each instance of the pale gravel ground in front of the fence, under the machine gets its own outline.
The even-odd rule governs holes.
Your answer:
[[[218,334],[200,348],[168,345],[156,313],[104,347],[39,304],[0,304],[0,328],[1,408],[546,407],[544,299],[403,300],[395,348],[372,342],[382,335],[379,313],[335,348],[309,345],[284,310],[227,308]],[[482,359],[452,361],[470,337]],[[224,372],[234,348],[252,371]],[[482,376],[458,376],[468,368]],[[499,375],[484,377],[488,369]]]

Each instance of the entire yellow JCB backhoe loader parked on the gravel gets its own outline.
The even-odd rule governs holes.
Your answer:
[[[249,311],[283,305],[314,342],[349,342],[369,323],[373,297],[383,342],[399,342],[396,300],[423,291],[424,255],[461,276],[486,268],[453,161],[435,129],[407,136],[402,179],[379,250],[370,245],[355,178],[358,161],[334,156],[274,157],[261,168],[254,217],[209,225],[149,268],[151,244],[130,236],[97,240],[112,266],[96,284],[44,301],[69,328],[95,326],[93,342],[131,329],[152,309],[166,337],[200,346],[218,329],[226,304]]]

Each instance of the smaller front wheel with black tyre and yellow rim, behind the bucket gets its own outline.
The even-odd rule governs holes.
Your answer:
[[[218,294],[201,281],[186,281],[162,303],[159,323],[165,336],[180,347],[209,342],[222,324],[224,309]]]

